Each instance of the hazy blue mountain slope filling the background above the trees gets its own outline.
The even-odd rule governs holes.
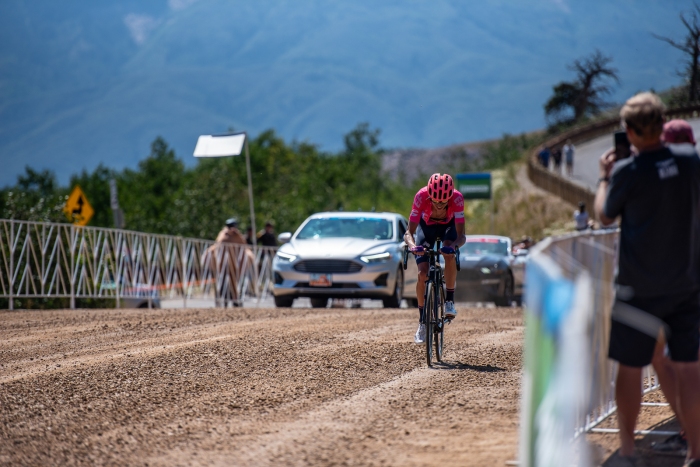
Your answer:
[[[162,136],[274,128],[325,150],[358,122],[389,148],[544,125],[566,65],[599,48],[613,100],[677,84],[679,0],[3,0],[0,186],[25,165],[133,167]]]

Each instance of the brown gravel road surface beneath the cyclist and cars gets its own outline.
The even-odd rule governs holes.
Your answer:
[[[2,465],[504,465],[522,310],[0,312]]]

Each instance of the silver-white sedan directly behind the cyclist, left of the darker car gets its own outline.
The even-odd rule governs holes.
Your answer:
[[[324,307],[329,298],[381,299],[398,308],[416,301],[418,269],[403,270],[403,234],[408,222],[400,214],[322,212],[306,219],[279,247],[272,262],[275,305],[292,306],[309,297]]]

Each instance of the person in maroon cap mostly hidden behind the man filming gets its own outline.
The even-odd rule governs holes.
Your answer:
[[[661,139],[664,144],[674,152],[688,152],[695,150],[695,136],[693,135],[693,127],[685,120],[671,120],[664,125],[664,131],[661,134]],[[654,358],[652,365],[656,372],[661,391],[664,393],[673,413],[676,414],[676,419],[681,423],[681,431],[676,435],[666,438],[660,443],[651,443],[651,448],[659,452],[676,451],[678,454],[685,455],[688,450],[688,440],[685,437],[683,430],[683,421],[679,415],[678,403],[676,401],[676,375],[673,371],[673,363],[667,355],[668,347],[663,335],[657,340],[656,348],[654,349]]]

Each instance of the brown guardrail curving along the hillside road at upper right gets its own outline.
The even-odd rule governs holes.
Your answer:
[[[670,118],[694,118],[700,114],[700,105],[669,109],[666,115]],[[551,172],[543,167],[537,160],[537,155],[545,146],[550,149],[558,149],[564,146],[566,140],[570,139],[574,144],[589,141],[598,136],[608,134],[620,127],[618,117],[601,120],[580,128],[565,131],[547,140],[542,145],[535,148],[527,160],[527,174],[532,183],[572,205],[583,201],[587,206],[593,206],[595,193],[588,188],[578,185],[560,174]]]

